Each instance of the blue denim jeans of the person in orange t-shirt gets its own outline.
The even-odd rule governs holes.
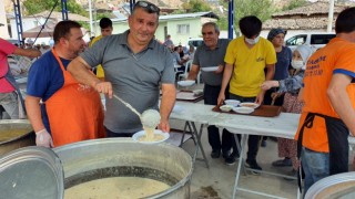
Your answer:
[[[329,154],[317,153],[303,147],[301,163],[305,174],[305,195],[313,184],[329,176]]]

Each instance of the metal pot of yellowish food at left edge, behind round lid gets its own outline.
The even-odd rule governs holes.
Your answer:
[[[29,121],[0,119],[0,156],[31,145],[36,145],[36,135]]]

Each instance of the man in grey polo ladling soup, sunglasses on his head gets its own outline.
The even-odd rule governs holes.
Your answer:
[[[154,40],[160,9],[138,1],[129,17],[130,29],[122,34],[105,36],[68,66],[79,82],[106,94],[104,126],[108,137],[130,137],[142,129],[140,118],[113,94],[129,102],[140,113],[156,108],[162,88],[161,123],[170,132],[169,115],[175,103],[174,66],[169,50]],[[105,82],[88,72],[101,64]]]

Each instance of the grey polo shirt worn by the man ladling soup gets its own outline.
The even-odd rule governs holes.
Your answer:
[[[138,112],[158,108],[160,84],[174,84],[171,52],[152,40],[148,48],[133,53],[128,44],[129,31],[99,40],[80,56],[91,66],[101,64],[113,94]],[[106,98],[104,126],[115,133],[142,129],[139,117],[115,98]]]

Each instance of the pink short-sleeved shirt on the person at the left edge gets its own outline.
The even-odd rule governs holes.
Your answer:
[[[0,93],[10,93],[14,87],[4,78],[9,71],[8,55],[12,54],[16,45],[0,38]]]

